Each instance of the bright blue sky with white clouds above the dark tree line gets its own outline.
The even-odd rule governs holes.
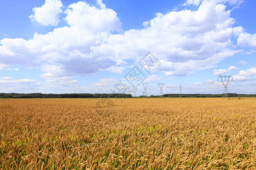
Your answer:
[[[256,94],[256,2],[0,0],[0,92]],[[140,65],[152,56],[155,64]],[[146,57],[143,59],[143,57]],[[149,57],[149,58],[148,58]],[[145,60],[146,59],[146,60]],[[157,62],[156,62],[157,61]],[[144,66],[144,68],[143,68]],[[137,72],[138,73],[138,72]],[[142,77],[141,77],[142,78]],[[123,88],[118,88],[123,92]]]

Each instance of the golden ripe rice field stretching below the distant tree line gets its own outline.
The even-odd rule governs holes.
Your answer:
[[[255,97],[97,101],[0,100],[0,169],[256,169]]]

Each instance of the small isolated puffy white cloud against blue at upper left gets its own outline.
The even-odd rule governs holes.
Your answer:
[[[62,2],[60,0],[46,0],[42,7],[34,7],[34,14],[29,18],[32,22],[42,24],[44,26],[56,26],[59,23],[59,14],[62,12]]]

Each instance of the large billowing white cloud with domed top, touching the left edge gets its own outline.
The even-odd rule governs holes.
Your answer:
[[[68,27],[55,28],[44,35],[35,33],[31,40],[2,39],[0,62],[40,67],[46,74],[60,77],[96,73],[120,63],[112,56],[97,55],[92,50],[110,32],[121,29],[113,10],[77,2],[65,14]]]

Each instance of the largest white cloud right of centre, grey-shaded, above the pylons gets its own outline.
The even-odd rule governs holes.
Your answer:
[[[106,43],[93,49],[94,54],[121,59],[136,56],[137,62],[150,51],[163,63],[156,71],[188,75],[212,68],[240,52],[229,49],[233,24],[224,5],[204,1],[197,11],[158,13],[154,19],[144,22],[146,28],[110,35]]]

